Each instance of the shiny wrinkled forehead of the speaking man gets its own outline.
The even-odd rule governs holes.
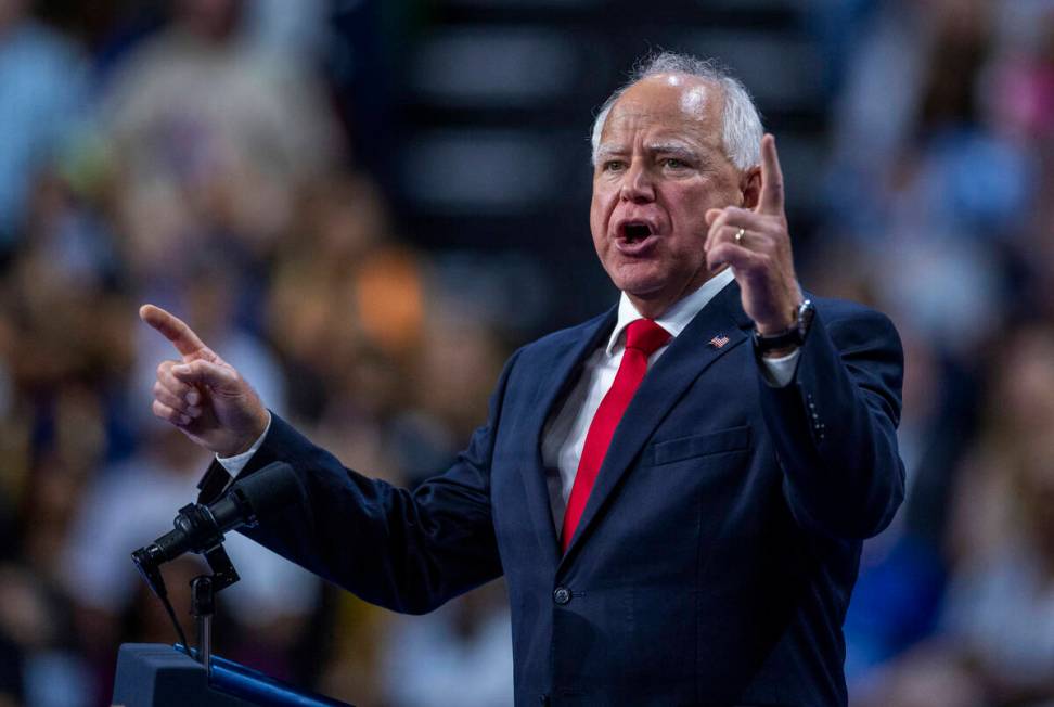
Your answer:
[[[650,76],[618,98],[604,121],[601,140],[642,127],[716,136],[723,104],[723,89],[708,79],[684,74]]]

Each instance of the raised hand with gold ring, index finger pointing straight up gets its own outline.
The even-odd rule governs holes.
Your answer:
[[[732,266],[743,292],[743,309],[761,334],[788,329],[801,304],[801,290],[794,274],[775,138],[766,134],[761,140],[761,192],[757,206],[753,210],[735,206],[711,208],[706,221],[710,230],[704,248],[710,271]]]

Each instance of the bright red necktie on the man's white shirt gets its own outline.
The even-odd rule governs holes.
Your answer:
[[[578,473],[575,474],[575,485],[571,487],[570,498],[567,499],[567,512],[564,514],[564,527],[560,532],[560,542],[564,552],[575,536],[575,528],[586,510],[586,501],[593,490],[593,481],[600,473],[607,447],[612,444],[615,427],[622,419],[622,413],[629,407],[633,394],[640,387],[644,374],[647,372],[647,359],[652,354],[670,340],[670,334],[651,319],[638,319],[630,322],[626,329],[626,350],[622,362],[615,374],[615,383],[604,396],[596,414],[589,424],[586,433],[586,444],[582,447],[582,458],[578,462]]]

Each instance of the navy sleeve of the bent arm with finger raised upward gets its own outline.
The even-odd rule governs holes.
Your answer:
[[[902,381],[892,323],[854,307],[817,314],[789,385],[760,384],[784,494],[800,525],[867,538],[892,520],[904,498]]]

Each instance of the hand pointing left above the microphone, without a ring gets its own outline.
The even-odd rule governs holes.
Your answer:
[[[143,305],[139,318],[171,342],[181,357],[157,367],[154,414],[220,457],[248,450],[269,420],[252,386],[178,317]]]

